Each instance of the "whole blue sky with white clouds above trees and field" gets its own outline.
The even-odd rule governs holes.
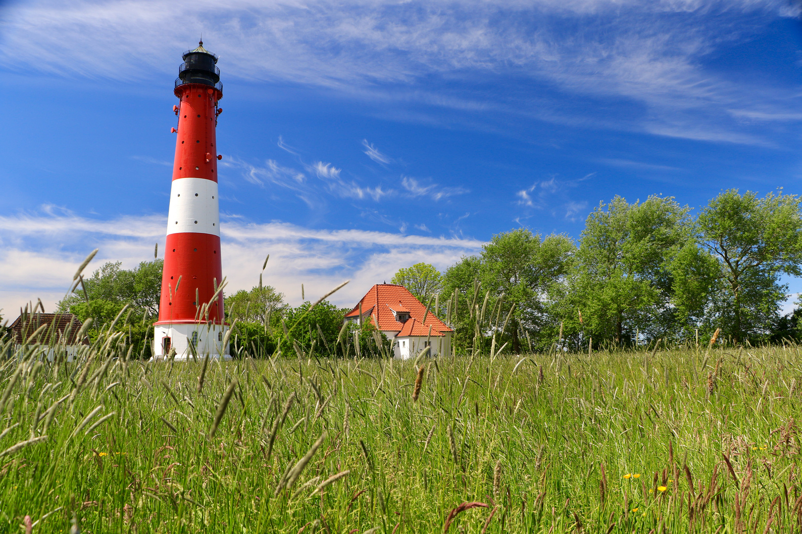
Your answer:
[[[599,202],[799,191],[785,0],[0,3],[2,315],[164,243],[180,54],[220,56],[229,291],[444,269]],[[800,283],[789,280],[792,291]],[[307,297],[308,298],[308,297]]]

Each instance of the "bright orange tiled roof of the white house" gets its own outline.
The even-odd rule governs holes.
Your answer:
[[[429,311],[424,324],[423,315],[426,315],[426,307],[418,299],[415,299],[415,295],[412,295],[406,287],[398,286],[394,283],[377,283],[374,287],[371,287],[370,291],[367,291],[359,302],[362,303],[363,315],[368,315],[368,311],[370,311],[373,323],[382,331],[401,332],[406,329],[415,332],[407,335],[429,335],[430,325],[431,335],[444,335],[443,332],[452,331],[446,323],[438,319],[431,311]],[[410,319],[407,320],[406,324],[395,320],[394,310],[407,311],[409,313]],[[357,317],[358,315],[359,303],[346,314],[346,318]],[[407,325],[409,326],[407,327]]]

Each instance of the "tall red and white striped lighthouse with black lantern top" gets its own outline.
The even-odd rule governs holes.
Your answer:
[[[156,359],[229,359],[225,323],[217,191],[217,117],[223,84],[217,56],[203,47],[187,50],[178,69],[172,110],[178,124],[172,164],[167,243],[159,320],[154,323]]]

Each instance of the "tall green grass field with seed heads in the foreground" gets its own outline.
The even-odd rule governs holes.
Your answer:
[[[800,531],[797,347],[127,352],[2,360],[0,532]]]

